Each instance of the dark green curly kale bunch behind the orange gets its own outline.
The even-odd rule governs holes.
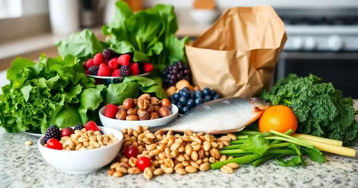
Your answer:
[[[290,74],[279,79],[270,92],[262,91],[261,98],[273,105],[289,106],[300,122],[299,133],[342,140],[344,145],[352,145],[357,139],[354,116],[358,112],[352,98],[342,97],[332,83],[322,83],[312,74],[301,78]]]

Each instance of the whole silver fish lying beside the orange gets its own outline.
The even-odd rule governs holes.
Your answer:
[[[195,107],[168,125],[151,127],[150,132],[185,129],[208,134],[222,134],[242,130],[261,116],[271,103],[259,98],[221,98]]]

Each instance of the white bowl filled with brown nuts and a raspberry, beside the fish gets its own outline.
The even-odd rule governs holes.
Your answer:
[[[98,112],[103,126],[122,130],[126,127],[161,126],[169,124],[178,117],[178,107],[167,98],[159,100],[145,93],[133,99],[127,98],[123,104],[107,104]]]

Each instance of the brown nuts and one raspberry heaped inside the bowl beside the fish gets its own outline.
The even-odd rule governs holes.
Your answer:
[[[145,93],[138,98],[127,98],[120,106],[108,104],[105,116],[118,120],[138,121],[154,120],[170,115],[171,102],[167,98],[161,101]]]

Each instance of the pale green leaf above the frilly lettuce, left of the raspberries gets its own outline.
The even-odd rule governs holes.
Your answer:
[[[100,53],[104,49],[102,43],[89,29],[73,33],[68,38],[59,41],[56,45],[58,53],[62,57],[71,54],[81,59],[93,57],[96,53]]]

